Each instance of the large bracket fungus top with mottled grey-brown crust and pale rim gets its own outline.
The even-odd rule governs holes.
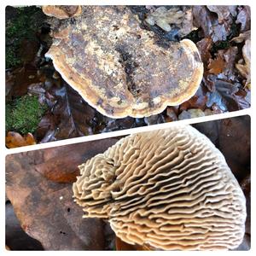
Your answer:
[[[145,117],[179,105],[201,84],[203,64],[189,39],[163,41],[123,6],[83,6],[54,22],[46,56],[93,108],[112,118]]]

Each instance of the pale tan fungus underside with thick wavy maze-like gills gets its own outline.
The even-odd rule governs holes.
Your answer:
[[[164,250],[239,246],[246,201],[223,154],[189,125],[134,134],[79,166],[84,218],[127,243]]]

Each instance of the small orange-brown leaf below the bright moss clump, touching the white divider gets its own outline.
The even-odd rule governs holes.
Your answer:
[[[36,140],[33,137],[32,133],[27,133],[23,137],[20,133],[15,131],[9,131],[5,137],[5,145],[7,148],[17,148],[28,145],[36,144]]]

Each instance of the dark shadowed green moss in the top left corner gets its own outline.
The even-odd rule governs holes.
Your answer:
[[[6,8],[6,12],[9,9]],[[8,14],[6,13],[8,16]],[[24,39],[37,40],[36,32],[44,22],[44,14],[35,6],[15,8],[15,15],[5,22],[5,66],[17,67],[20,60],[20,44]]]

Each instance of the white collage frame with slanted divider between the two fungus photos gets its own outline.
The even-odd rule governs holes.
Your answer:
[[[243,1],[229,1],[229,0],[222,0],[222,1],[204,1],[204,0],[184,0],[184,1],[177,1],[177,0],[169,0],[169,1],[153,1],[153,0],[140,0],[140,1],[136,1],[136,0],[126,0],[126,1],[92,1],[92,0],[86,0],[86,1],[76,1],[76,0],[52,0],[52,1],[38,1],[38,0],[24,0],[24,1],[6,1],[3,2],[0,5],[0,28],[1,28],[1,34],[0,34],[0,43],[1,43],[1,50],[0,50],[0,65],[1,65],[1,93],[0,93],[0,120],[1,120],[1,124],[0,124],[0,163],[1,163],[1,172],[0,172],[0,198],[1,198],[1,207],[0,207],[0,255],[5,255],[5,254],[14,254],[14,255],[27,255],[32,253],[31,255],[34,255],[34,253],[37,253],[37,255],[39,254],[43,254],[43,253],[47,253],[49,255],[70,255],[71,253],[76,253],[77,255],[84,255],[84,253],[86,253],[86,255],[95,255],[96,254],[104,254],[104,255],[111,255],[113,256],[113,253],[117,255],[117,253],[120,255],[129,255],[128,253],[131,252],[122,252],[122,251],[96,251],[96,252],[90,252],[90,251],[41,251],[41,252],[28,252],[28,251],[6,251],[5,250],[5,207],[4,207],[4,202],[5,202],[5,156],[7,154],[15,154],[15,153],[19,153],[19,152],[26,152],[26,151],[31,151],[31,150],[35,150],[35,149],[41,149],[41,148],[52,148],[52,147],[57,147],[57,146],[61,146],[61,145],[67,145],[67,144],[73,144],[73,143],[82,143],[82,142],[87,142],[87,141],[93,141],[93,140],[99,140],[102,138],[106,138],[106,137],[117,137],[117,136],[122,136],[122,135],[128,135],[131,133],[137,133],[137,132],[141,132],[141,131],[152,131],[152,130],[156,130],[156,129],[164,129],[166,127],[171,127],[172,125],[181,125],[181,124],[195,124],[195,123],[201,123],[201,122],[206,122],[206,121],[210,121],[210,120],[216,120],[216,119],[226,119],[226,118],[231,118],[231,117],[235,117],[235,116],[240,116],[240,115],[245,115],[248,114],[251,116],[251,154],[252,154],[252,161],[251,161],[251,183],[254,184],[255,183],[255,178],[256,178],[256,174],[254,173],[254,169],[256,166],[256,157],[253,157],[253,155],[256,154],[256,148],[255,148],[255,142],[256,142],[256,123],[255,123],[255,119],[256,119],[256,109],[254,108],[254,102],[255,102],[255,95],[254,95],[254,90],[255,90],[255,86],[253,84],[253,81],[255,81],[255,73],[256,73],[256,68],[255,68],[255,47],[256,45],[254,43],[256,43],[255,41],[255,15],[256,15],[256,9],[255,9],[255,3],[256,1],[254,0],[243,0]],[[183,5],[236,5],[236,4],[242,4],[242,5],[250,5],[251,6],[251,12],[252,12],[252,55],[251,55],[251,59],[252,59],[252,89],[253,89],[253,93],[252,93],[252,108],[248,108],[248,109],[243,109],[240,111],[235,111],[235,112],[230,112],[230,113],[220,113],[220,114],[215,114],[215,115],[211,115],[211,116],[206,116],[206,117],[200,117],[200,118],[195,118],[195,119],[184,119],[184,120],[180,120],[180,121],[176,121],[176,122],[171,122],[171,123],[165,123],[165,124],[160,124],[160,125],[150,125],[150,126],[144,126],[144,127],[138,127],[138,128],[132,128],[132,129],[128,129],[128,130],[122,130],[122,131],[113,131],[113,132],[108,132],[108,133],[102,133],[102,134],[96,134],[96,135],[91,135],[88,137],[77,137],[77,138],[72,138],[72,139],[66,139],[66,140],[62,140],[62,141],[57,141],[57,142],[52,142],[52,143],[42,143],[42,144],[37,144],[37,145],[32,145],[32,146],[26,146],[26,147],[22,147],[22,148],[5,148],[5,7],[6,5],[46,5],[46,4],[88,4],[88,5],[114,5],[114,4],[130,4],[130,5],[177,5],[177,4],[183,4]],[[255,69],[254,69],[255,68]],[[253,70],[254,69],[254,70]],[[254,71],[254,73],[253,73]],[[239,138],[238,138],[239,139]],[[256,156],[256,155],[255,155]],[[256,186],[252,185],[251,186],[251,194],[252,194],[252,198],[251,198],[251,202],[252,202],[252,207],[251,207],[251,216],[256,216],[256,207],[255,204],[253,204],[253,202],[255,202],[256,199]],[[253,239],[254,239],[254,232],[256,231],[256,221],[252,218],[251,219],[252,223],[251,223],[251,249],[249,251],[228,251],[228,252],[177,252],[177,251],[173,251],[173,252],[132,252],[135,254],[140,254],[140,255],[148,255],[148,253],[160,253],[162,255],[167,255],[166,253],[172,253],[172,255],[184,255],[186,253],[189,253],[189,255],[196,255],[198,253],[203,253],[204,255],[212,255],[212,253],[220,253],[222,255],[227,255],[230,253],[236,253],[236,255],[238,255],[237,253],[239,253],[239,255],[242,254],[252,254],[255,255],[256,253],[256,245],[253,244]],[[188,254],[187,254],[188,255]]]

